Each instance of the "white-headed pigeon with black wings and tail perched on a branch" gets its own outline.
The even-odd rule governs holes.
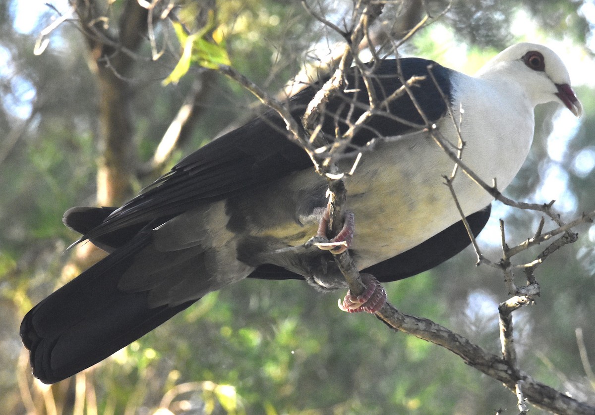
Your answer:
[[[287,100],[297,122],[323,82]],[[353,174],[343,178],[343,219],[347,224],[350,215],[352,223],[343,228],[342,245],[356,268],[371,275],[368,288],[434,268],[470,243],[444,186],[455,162],[428,125],[453,149],[460,131],[462,161],[503,190],[527,158],[537,105],[557,102],[577,117],[582,112],[562,59],[543,45],[512,45],[474,76],[428,59],[386,58],[346,72],[322,111],[322,144],[367,111],[370,91],[382,111],[369,114],[337,159],[345,170],[359,156]],[[493,197],[460,172],[452,186],[477,236]],[[245,278],[346,288],[336,251],[308,245],[328,215],[327,188],[271,110],[186,156],[120,208],[68,210],[64,224],[81,234],[77,242],[88,240],[108,256],[24,316],[20,335],[33,375],[44,383],[66,379],[203,295]],[[382,293],[378,286],[368,297]],[[347,300],[348,311],[379,306],[368,298]]]

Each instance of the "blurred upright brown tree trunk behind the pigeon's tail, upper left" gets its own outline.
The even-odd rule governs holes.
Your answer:
[[[115,34],[109,24],[107,10],[103,10],[101,4],[100,1],[79,0],[75,8],[89,45],[90,66],[95,69],[98,80],[102,153],[97,199],[99,205],[114,206],[130,196],[133,166],[136,164],[130,114],[132,94],[129,83],[123,78],[132,70],[135,60],[122,51],[139,48],[146,36],[148,11],[136,0],[127,0]],[[101,39],[111,42],[102,42]]]

